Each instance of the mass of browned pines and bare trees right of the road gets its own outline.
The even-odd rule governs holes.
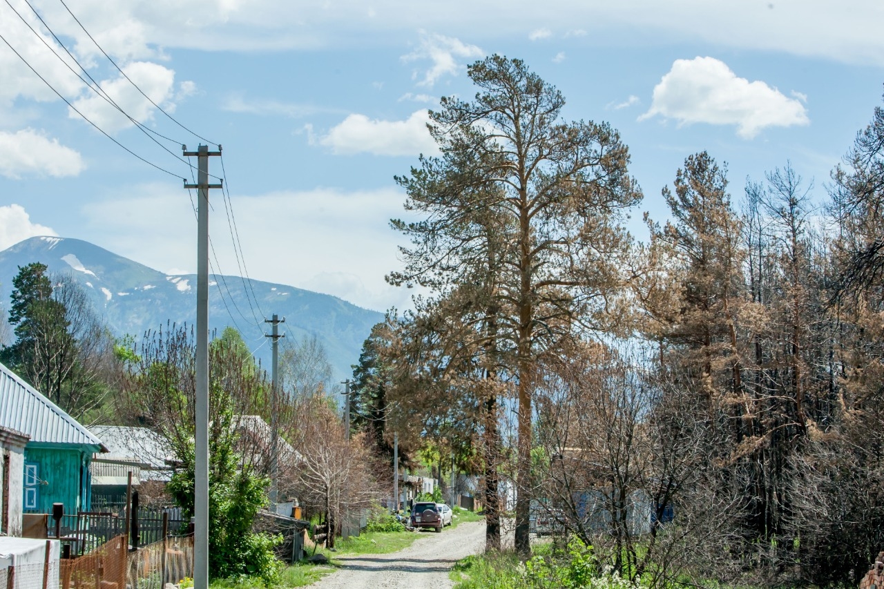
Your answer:
[[[629,582],[857,585],[884,548],[884,110],[822,189],[688,155],[640,240],[615,129],[518,59],[468,71],[396,179],[418,220],[387,279],[423,294],[366,341],[354,424],[478,473],[487,548],[514,522],[523,562],[545,511],[562,562]]]

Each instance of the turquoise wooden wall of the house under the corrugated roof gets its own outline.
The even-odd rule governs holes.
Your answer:
[[[27,465],[37,464],[37,509],[35,513],[52,513],[53,503],[64,503],[65,514],[88,511],[92,493],[89,462],[97,447],[27,444],[25,446],[25,472],[27,493]],[[27,507],[27,503],[26,503]]]

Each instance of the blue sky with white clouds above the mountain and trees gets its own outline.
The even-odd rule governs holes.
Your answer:
[[[882,23],[880,0],[4,0],[0,249],[59,235],[194,272],[179,157],[205,140],[230,195],[210,195],[213,270],[408,308],[384,279],[406,244],[393,177],[436,153],[427,109],[475,95],[466,66],[493,53],[559,88],[563,119],[619,130],[638,239],[701,150],[727,164],[735,203],[791,164],[822,204],[881,103]]]

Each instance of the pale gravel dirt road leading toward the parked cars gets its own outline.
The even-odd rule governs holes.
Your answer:
[[[441,534],[422,532],[410,547],[389,555],[345,556],[344,566],[315,589],[437,589],[451,587],[448,571],[464,556],[484,549],[484,522],[460,524]]]

